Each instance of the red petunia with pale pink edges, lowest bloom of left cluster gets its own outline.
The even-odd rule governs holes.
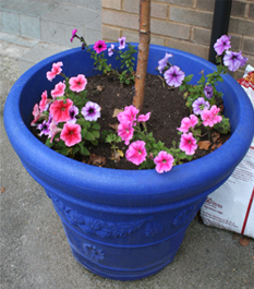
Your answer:
[[[81,125],[76,123],[64,123],[60,134],[60,139],[64,141],[66,146],[73,146],[82,141]]]

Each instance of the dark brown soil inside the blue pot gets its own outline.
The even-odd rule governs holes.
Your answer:
[[[134,85],[122,85],[116,81],[112,76],[96,75],[87,79],[88,91],[87,99],[99,104],[101,107],[101,118],[98,119],[101,132],[104,130],[111,130],[112,124],[118,123],[118,119],[113,116],[114,109],[123,109],[125,106],[132,104],[134,95]],[[177,144],[180,142],[180,135],[178,134],[177,128],[180,127],[181,120],[184,117],[190,116],[189,109],[185,107],[185,100],[183,99],[183,94],[179,89],[169,88],[165,85],[164,81],[156,75],[147,74],[146,76],[146,89],[145,89],[145,101],[142,113],[147,113],[150,111],[150,119],[148,120],[147,130],[153,132],[156,141],[161,141],[167,147],[171,147],[171,143],[174,140]],[[36,134],[38,131],[36,131]],[[213,133],[213,131],[211,131]],[[203,157],[217,146],[220,146],[229,136],[220,136],[219,140],[211,142],[210,147],[206,149],[196,149],[193,159]],[[199,141],[206,141],[207,135]],[[118,144],[119,149],[123,153],[126,150],[124,143]],[[211,148],[213,147],[213,148]],[[101,140],[97,147],[87,147],[90,152],[90,157],[80,157],[78,160],[101,166],[101,159],[104,167],[118,168],[118,169],[137,169],[137,167],[125,159],[121,158],[120,161],[114,161],[111,159],[112,149],[110,144],[105,144]],[[96,157],[95,157],[96,156]],[[99,158],[97,157],[99,156]],[[94,157],[94,159],[93,159]]]

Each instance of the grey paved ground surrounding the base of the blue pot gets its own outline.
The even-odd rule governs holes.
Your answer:
[[[126,282],[104,279],[76,263],[51,201],[13,152],[2,118],[5,97],[20,74],[19,58],[22,62],[38,46],[51,53],[52,46],[0,36],[5,39],[0,40],[2,289],[254,288],[254,240],[242,246],[233,232],[197,220],[192,221],[174,261],[149,278]]]

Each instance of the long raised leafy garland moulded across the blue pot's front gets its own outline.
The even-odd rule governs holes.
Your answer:
[[[137,231],[142,226],[145,227],[146,237],[155,237],[164,231],[164,227],[155,221],[153,216],[144,219],[129,222],[111,222],[84,216],[76,210],[65,206],[58,197],[51,194],[53,204],[65,216],[65,218],[74,226],[81,228],[86,233],[97,234],[101,238],[121,238]]]

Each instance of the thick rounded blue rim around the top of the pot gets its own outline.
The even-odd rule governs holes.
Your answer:
[[[137,44],[132,45],[137,46]],[[150,51],[159,51],[162,57],[166,49],[167,52],[173,55],[178,53],[180,58],[183,57],[191,61],[199,61],[204,67],[215,67],[213,63],[197,56],[178,49],[150,45]],[[102,188],[106,185],[108,186],[110,195],[122,200],[122,205],[125,205],[125,201],[131,197],[130,189],[134,189],[134,193],[131,194],[134,198],[138,198],[141,202],[142,198],[144,198],[144,195],[148,195],[148,203],[160,203],[160,201],[158,201],[159,195],[168,194],[170,188],[170,192],[177,192],[177,194],[179,194],[179,196],[171,197],[171,201],[177,201],[181,198],[186,185],[190,189],[190,195],[199,192],[198,184],[201,183],[204,184],[207,190],[211,188],[211,183],[214,184],[216,182],[219,185],[223,179],[227,179],[230,176],[247,152],[253,139],[253,133],[251,132],[254,132],[253,107],[245,92],[230,75],[223,76],[223,85],[232,87],[235,97],[241,99],[237,104],[238,116],[235,117],[239,117],[239,122],[233,134],[221,147],[211,154],[191,162],[176,166],[169,172],[160,174],[156,172],[155,169],[122,170],[99,168],[70,159],[56,153],[51,148],[48,148],[45,144],[38,141],[25,125],[20,112],[21,106],[24,104],[20,104],[20,98],[17,96],[20,96],[24,87],[28,85],[27,83],[33,75],[39,74],[39,71],[44,67],[60,61],[63,57],[70,57],[73,53],[80,52],[81,48],[73,48],[49,57],[32,67],[13,85],[5,103],[4,125],[10,142],[26,169],[29,172],[34,169],[35,172],[33,172],[32,176],[37,181],[38,178],[43,178],[44,181],[50,178],[50,182],[55,181],[59,183],[58,179],[60,177],[62,181],[58,184],[58,189],[64,189],[66,183],[72,179],[74,186],[77,190],[82,190],[81,188],[85,184],[88,194],[92,194],[94,191],[102,192]],[[153,58],[153,56],[149,57],[149,59],[150,58]],[[156,59],[159,59],[158,56]],[[27,147],[29,147],[29,149],[27,149]],[[52,164],[52,159],[56,159],[57,161]],[[196,177],[197,170],[198,177]],[[176,180],[180,180],[180,182],[176,182]],[[41,181],[38,182],[41,184]],[[102,200],[106,198],[102,193],[100,196]],[[98,202],[97,198],[98,196],[90,196],[87,200],[96,200]],[[107,202],[107,200],[105,202]],[[142,204],[145,203],[146,202],[142,202]]]

